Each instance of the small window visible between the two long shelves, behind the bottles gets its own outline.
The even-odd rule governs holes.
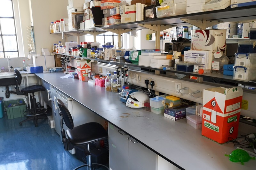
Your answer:
[[[100,45],[104,45],[107,42],[111,42],[112,45],[118,45],[117,34],[112,32],[99,34],[96,36],[96,40],[100,43]],[[93,42],[93,36],[90,34],[85,35],[85,41]]]

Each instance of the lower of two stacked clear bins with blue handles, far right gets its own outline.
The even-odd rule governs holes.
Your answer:
[[[234,66],[233,79],[237,80],[256,80],[256,67],[247,68],[243,66]]]

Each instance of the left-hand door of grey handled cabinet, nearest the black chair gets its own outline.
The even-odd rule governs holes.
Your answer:
[[[108,123],[109,167],[112,170],[129,170],[127,137],[129,136],[124,132]]]

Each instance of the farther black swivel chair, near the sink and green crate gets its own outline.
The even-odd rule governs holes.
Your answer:
[[[45,91],[44,86],[42,85],[31,85],[28,87],[25,87],[23,89],[19,88],[19,85],[21,84],[21,74],[20,71],[14,70],[16,73],[16,92],[11,91],[10,93],[15,93],[17,95],[29,95],[29,93],[32,93],[32,101],[31,101],[31,108],[29,110],[26,110],[23,115],[27,117],[24,121],[20,122],[20,126],[22,125],[23,122],[27,122],[30,120],[34,120],[35,126],[37,127],[37,120],[38,119],[47,119],[47,114],[46,111],[47,109],[45,108],[37,108],[36,107],[36,98],[35,98],[35,92],[39,91]]]

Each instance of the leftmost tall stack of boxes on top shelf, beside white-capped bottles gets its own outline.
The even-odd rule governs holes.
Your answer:
[[[80,29],[80,22],[83,22],[84,0],[68,0],[68,30]]]

